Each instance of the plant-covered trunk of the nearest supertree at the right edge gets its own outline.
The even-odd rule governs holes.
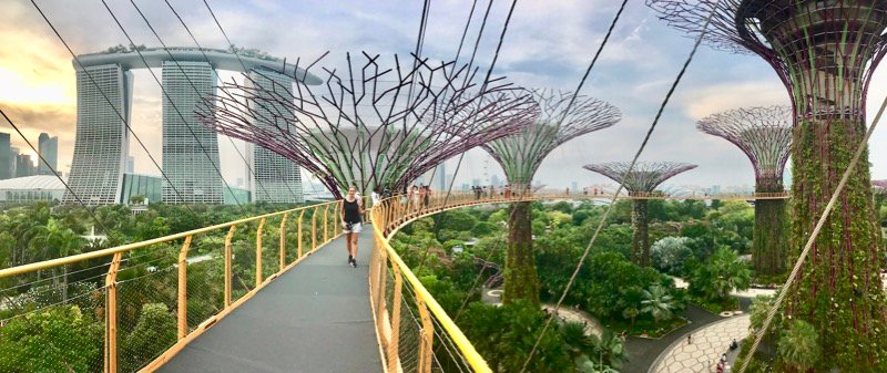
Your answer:
[[[792,262],[865,131],[863,122],[854,121],[801,121],[795,128]],[[867,153],[863,159],[868,159]],[[868,168],[868,162],[857,163],[804,265],[788,309],[816,325],[823,351],[834,352],[826,359],[834,359],[835,365],[847,372],[883,367],[887,358],[883,349],[884,291],[878,277],[883,255]]]

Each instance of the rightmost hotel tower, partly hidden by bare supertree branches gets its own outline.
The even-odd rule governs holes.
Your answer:
[[[293,76],[259,68],[249,72],[249,80],[246,81],[246,85],[255,85],[261,89],[259,92],[264,90],[278,91],[282,96],[286,97],[292,96],[294,82]],[[274,103],[274,100],[263,101],[258,107],[255,107],[255,101],[251,101],[249,105],[256,111],[257,117],[275,118],[274,121],[276,121],[276,123],[261,123],[262,125],[279,128],[286,128],[292,125],[286,120],[273,115],[273,111],[287,111],[283,105]],[[258,145],[253,147],[253,196],[255,201],[300,203],[305,199],[302,194],[302,172],[297,164]]]

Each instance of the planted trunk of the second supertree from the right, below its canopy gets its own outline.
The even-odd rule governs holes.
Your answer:
[[[778,178],[757,180],[757,193],[783,191]],[[785,199],[758,199],[755,201],[755,228],[752,245],[752,263],[758,276],[776,276],[785,272],[788,257],[788,224]]]

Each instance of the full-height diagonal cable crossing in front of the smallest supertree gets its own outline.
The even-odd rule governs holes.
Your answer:
[[[693,56],[696,54],[696,50],[699,50],[699,46],[702,43],[702,39],[705,35],[706,31],[708,30],[708,24],[711,23],[712,17],[714,17],[714,14],[715,14],[715,12],[717,10],[717,4],[720,4],[721,1],[722,0],[716,0],[715,1],[715,6],[712,8],[712,12],[708,13],[707,18],[705,18],[705,23],[703,24],[702,31],[700,32],[700,35],[696,38],[696,41],[693,43],[693,49],[690,51],[690,55],[687,55],[686,60],[684,61],[683,66],[681,68],[681,71],[677,73],[677,76],[674,79],[674,82],[672,83],[671,87],[669,89],[669,92],[665,94],[665,99],[663,99],[662,104],[659,106],[659,110],[656,111],[656,116],[653,118],[653,123],[650,124],[650,128],[646,131],[646,134],[644,135],[643,142],[641,142],[641,146],[638,148],[638,152],[634,153],[634,157],[632,158],[631,164],[629,165],[629,168],[623,174],[622,179],[625,179],[625,177],[629,174],[631,174],[631,172],[634,169],[634,165],[638,163],[638,158],[640,158],[641,153],[643,153],[644,148],[646,147],[646,144],[650,142],[650,137],[653,135],[653,131],[656,129],[656,125],[659,124],[659,120],[660,120],[660,117],[662,117],[662,113],[665,111],[665,106],[669,104],[669,100],[671,100],[672,94],[674,94],[674,91],[677,89],[677,84],[681,83],[681,79],[684,76],[684,73],[686,72],[687,66],[690,66],[690,62],[693,61]],[[604,222],[606,222],[606,217],[610,215],[610,211],[613,209],[613,206],[615,206],[616,196],[622,191],[623,188],[624,188],[624,184],[620,184],[619,188],[616,188],[616,191],[613,194],[613,197],[610,198],[610,205],[606,206],[606,210],[604,210],[603,216],[601,216],[601,220],[598,222],[598,228],[594,229],[594,235],[591,237],[591,240],[589,241],[589,245],[585,247],[585,250],[582,252],[582,257],[579,258],[579,262],[577,263],[575,269],[573,270],[573,273],[570,276],[570,280],[567,282],[567,286],[563,288],[563,292],[561,293],[560,299],[558,299],[558,303],[554,304],[554,311],[551,312],[552,315],[549,317],[549,319],[546,321],[546,325],[542,327],[542,331],[539,333],[539,336],[537,336],[536,343],[533,343],[533,348],[530,350],[530,354],[527,356],[527,360],[523,362],[523,367],[521,367],[520,373],[523,373],[523,372],[527,371],[527,366],[529,366],[530,361],[533,359],[533,355],[536,354],[536,350],[539,348],[539,343],[542,341],[542,338],[546,335],[546,332],[551,327],[551,321],[554,320],[553,314],[557,313],[558,310],[560,310],[561,304],[563,303],[563,300],[567,298],[567,293],[570,291],[570,288],[573,286],[573,282],[575,282],[575,278],[577,278],[577,276],[579,276],[579,270],[582,268],[582,265],[585,262],[585,258],[588,258],[589,252],[591,251],[591,247],[594,245],[594,241],[598,240],[598,235],[601,232],[601,229],[603,229],[603,225],[604,225]]]

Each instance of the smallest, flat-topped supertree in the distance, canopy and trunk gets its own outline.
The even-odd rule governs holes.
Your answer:
[[[696,168],[696,165],[676,162],[639,162],[629,173],[629,162],[611,162],[584,165],[583,168],[606,176],[622,184],[629,190],[629,197],[650,196],[656,187],[673,176]],[[646,215],[646,199],[634,198],[631,222],[634,226],[632,237],[632,260],[639,266],[650,266],[650,220]]]

